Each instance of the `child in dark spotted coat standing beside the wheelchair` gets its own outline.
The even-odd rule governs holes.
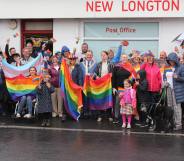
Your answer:
[[[50,126],[50,117],[52,114],[51,93],[54,92],[54,87],[50,83],[50,75],[44,75],[43,81],[37,87],[38,98],[38,114],[42,119],[41,126]]]

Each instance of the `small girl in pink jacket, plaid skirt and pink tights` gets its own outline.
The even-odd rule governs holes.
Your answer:
[[[132,89],[132,85],[130,80],[124,80],[124,88],[123,92],[120,92],[120,105],[121,110],[120,113],[122,115],[122,127],[126,127],[126,118],[128,119],[127,129],[131,128],[132,114],[134,109],[136,108],[136,91]]]

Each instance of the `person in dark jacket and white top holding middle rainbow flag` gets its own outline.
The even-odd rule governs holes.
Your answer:
[[[112,70],[113,70],[113,65],[108,61],[108,52],[107,51],[102,51],[101,59],[102,59],[102,61],[97,64],[97,67],[95,69],[96,79],[103,77],[104,75],[106,75],[108,73],[112,73]],[[101,122],[105,113],[107,113],[107,117],[108,117],[109,121],[112,122],[113,119],[112,119],[112,109],[111,108],[108,108],[107,110],[99,111],[97,121]]]

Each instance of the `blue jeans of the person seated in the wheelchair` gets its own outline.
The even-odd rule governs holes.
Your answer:
[[[28,108],[28,113],[32,114],[32,98],[31,96],[22,96],[21,100],[19,102],[18,105],[18,113],[22,113],[22,109],[24,108],[24,106],[26,105],[26,108]]]

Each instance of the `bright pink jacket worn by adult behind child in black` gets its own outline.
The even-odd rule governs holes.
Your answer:
[[[145,63],[141,66],[141,70],[146,71],[148,91],[159,92],[162,87],[162,76],[159,67],[156,64],[150,65]]]

